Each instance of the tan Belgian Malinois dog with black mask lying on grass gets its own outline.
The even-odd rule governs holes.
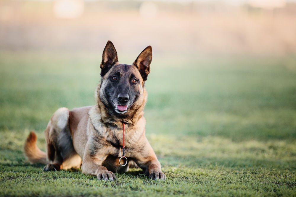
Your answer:
[[[31,163],[44,163],[44,171],[79,168],[99,180],[114,180],[113,173],[126,172],[133,163],[153,180],[165,179],[160,162],[145,136],[144,82],[150,72],[152,48],[148,46],[131,64],[119,64],[108,41],[100,65],[101,82],[96,87],[96,105],[68,110],[59,108],[45,129],[46,153],[36,146],[36,134],[28,136],[24,152]],[[123,123],[125,156],[122,166]]]

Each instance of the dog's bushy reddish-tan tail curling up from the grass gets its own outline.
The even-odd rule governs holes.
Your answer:
[[[34,163],[47,164],[46,153],[41,151],[37,147],[36,141],[37,141],[37,136],[33,131],[31,131],[27,140],[25,141],[25,146],[24,146],[25,156],[28,157],[30,163],[32,164]]]

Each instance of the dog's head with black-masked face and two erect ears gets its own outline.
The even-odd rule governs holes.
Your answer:
[[[122,116],[143,95],[144,82],[150,72],[152,48],[148,46],[133,64],[119,64],[117,52],[111,41],[104,51],[101,68],[99,97],[112,115]]]

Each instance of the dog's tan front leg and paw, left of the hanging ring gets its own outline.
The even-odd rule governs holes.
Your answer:
[[[96,175],[99,180],[113,181],[116,178],[113,172],[102,166],[106,154],[104,154],[103,149],[100,149],[99,152],[100,154],[95,153],[93,148],[86,148],[82,159],[81,171],[84,174]]]

